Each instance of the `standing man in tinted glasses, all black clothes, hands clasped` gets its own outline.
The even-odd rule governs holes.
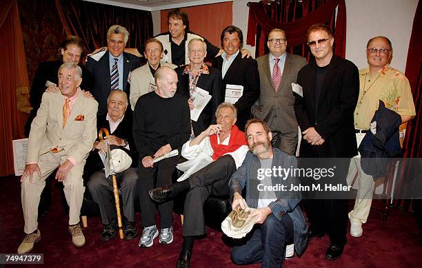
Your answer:
[[[297,83],[303,94],[295,94],[294,111],[303,136],[301,157],[314,158],[313,164],[323,162],[325,167],[332,166],[329,158],[345,158],[335,172],[336,180],[345,185],[350,158],[357,154],[353,112],[359,95],[359,72],[352,62],[334,55],[333,44],[327,25],[319,23],[309,28],[308,45],[315,61],[299,71]],[[309,239],[328,234],[330,247],[325,257],[340,258],[346,244],[348,200],[305,201],[311,224]]]

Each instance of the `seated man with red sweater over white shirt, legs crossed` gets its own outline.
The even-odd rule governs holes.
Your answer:
[[[152,189],[150,196],[156,201],[163,201],[185,192],[183,209],[183,245],[177,260],[177,267],[189,267],[194,237],[205,234],[203,204],[210,195],[228,195],[228,179],[241,165],[248,152],[245,134],[234,123],[237,109],[231,103],[221,103],[216,111],[217,125],[210,125],[192,141],[182,147],[182,156],[188,159],[183,164],[192,169],[198,164],[209,163],[194,172],[185,181],[166,187]],[[191,172],[188,170],[187,172]]]

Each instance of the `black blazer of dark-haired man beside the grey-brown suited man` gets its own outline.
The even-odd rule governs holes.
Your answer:
[[[212,61],[212,66],[220,70],[223,67],[223,57],[217,56]],[[242,59],[242,54],[239,52],[236,58],[228,68],[223,78],[223,87],[221,90],[221,98],[224,101],[225,86],[243,85],[243,95],[234,105],[237,107],[237,122],[236,125],[239,130],[245,130],[245,123],[250,119],[251,107],[254,105],[259,97],[259,73],[257,61],[252,58]]]

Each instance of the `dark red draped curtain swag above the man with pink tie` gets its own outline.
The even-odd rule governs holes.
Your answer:
[[[316,10],[310,12],[307,16],[291,21],[281,23],[270,19],[263,12],[259,3],[250,3],[249,20],[248,20],[248,37],[246,43],[255,45],[255,35],[257,34],[257,25],[261,27],[263,32],[268,34],[274,28],[280,28],[285,31],[288,36],[289,45],[301,45],[306,43],[306,32],[310,25],[314,23],[325,23],[330,20],[332,13],[338,8],[336,27],[334,30],[335,51],[338,56],[345,57],[345,32],[346,32],[346,12],[344,0],[329,0]],[[305,14],[304,14],[305,15]]]

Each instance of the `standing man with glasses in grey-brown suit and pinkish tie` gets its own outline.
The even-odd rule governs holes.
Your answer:
[[[273,29],[267,45],[270,53],[257,58],[260,92],[252,114],[270,126],[272,146],[293,155],[298,125],[292,83],[296,83],[297,73],[308,63],[301,56],[285,52],[287,39],[283,30]]]

